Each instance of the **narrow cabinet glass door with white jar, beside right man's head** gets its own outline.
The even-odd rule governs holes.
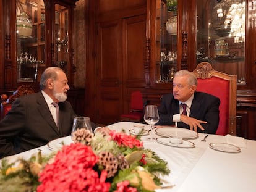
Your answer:
[[[156,1],[156,83],[173,81],[177,69],[177,0]]]

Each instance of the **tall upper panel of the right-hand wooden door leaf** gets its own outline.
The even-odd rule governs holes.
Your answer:
[[[124,87],[145,86],[146,15],[123,20]]]

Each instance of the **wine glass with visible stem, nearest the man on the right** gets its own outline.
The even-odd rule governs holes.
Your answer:
[[[144,112],[144,120],[150,125],[150,140],[153,140],[153,125],[159,121],[158,108],[155,105],[147,105]]]

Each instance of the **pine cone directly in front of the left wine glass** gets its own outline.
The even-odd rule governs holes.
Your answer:
[[[93,133],[85,128],[79,128],[72,133],[72,140],[74,143],[83,143],[90,145],[92,141]]]

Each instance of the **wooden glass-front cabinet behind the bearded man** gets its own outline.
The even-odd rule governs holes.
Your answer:
[[[74,9],[77,0],[0,0],[4,40],[0,90],[29,84],[36,90],[50,66],[66,72],[74,86]]]

